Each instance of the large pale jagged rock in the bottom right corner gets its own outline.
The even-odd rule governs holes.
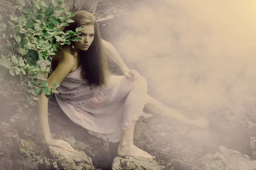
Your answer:
[[[204,169],[218,168],[218,170],[256,170],[256,161],[251,161],[250,157],[241,154],[236,150],[227,149],[221,145],[220,152],[209,153],[201,158]]]

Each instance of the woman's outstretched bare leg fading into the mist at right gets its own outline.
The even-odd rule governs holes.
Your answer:
[[[187,124],[195,125],[198,127],[207,127],[209,124],[207,119],[190,120],[187,117],[175,112],[163,103],[159,102],[157,99],[154,99],[153,97],[149,98],[149,102],[145,104],[143,111],[145,111],[146,113],[150,113],[152,115],[176,119],[181,122],[185,122]]]

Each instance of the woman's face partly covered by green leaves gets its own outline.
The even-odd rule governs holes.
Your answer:
[[[81,37],[81,41],[75,41],[75,45],[80,50],[86,51],[94,40],[94,27],[93,26],[83,26],[84,29],[80,31],[81,34],[76,35],[76,37]]]

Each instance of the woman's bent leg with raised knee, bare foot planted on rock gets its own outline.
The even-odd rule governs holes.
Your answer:
[[[136,80],[136,84],[131,89],[128,94],[128,97],[125,101],[125,114],[124,119],[126,116],[134,115],[134,112],[143,111],[145,106],[145,99],[147,96],[147,81],[144,77],[140,77]],[[130,117],[131,119],[131,117]],[[142,156],[147,158],[154,158],[147,152],[139,149],[138,147],[134,146],[133,137],[134,137],[134,127],[135,122],[132,125],[127,126],[121,135],[120,144],[117,150],[117,155],[120,157],[125,156]]]

